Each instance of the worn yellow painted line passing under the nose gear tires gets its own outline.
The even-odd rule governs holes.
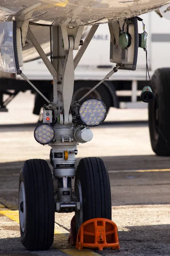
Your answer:
[[[19,221],[19,212],[18,212],[18,210],[16,210],[16,211],[1,210],[0,211],[0,215],[1,214],[6,216],[6,217],[8,217],[8,218],[10,218],[13,221],[16,221],[18,223],[20,222]],[[60,241],[65,241],[65,243],[68,243],[67,242],[68,237],[65,236],[63,233],[61,233],[58,230],[54,230],[54,235],[55,234],[59,234],[60,235],[59,236]],[[78,250],[74,249],[74,248],[71,248],[71,249],[69,249],[69,248],[68,249],[59,249],[59,250],[62,251],[63,253],[66,253],[66,254],[70,255],[70,256],[99,256],[98,253],[95,253],[94,250],[90,250],[90,249],[82,249],[80,252]]]

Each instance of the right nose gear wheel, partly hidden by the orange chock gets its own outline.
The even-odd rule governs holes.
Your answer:
[[[77,231],[91,218],[111,220],[111,187],[108,171],[99,157],[86,157],[77,166],[74,192],[80,202],[75,212]]]

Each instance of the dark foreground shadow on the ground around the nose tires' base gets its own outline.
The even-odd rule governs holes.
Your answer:
[[[119,243],[121,250],[104,249],[103,256],[169,256],[170,255],[170,225],[130,226],[127,231],[119,231]],[[54,235],[54,244],[48,251],[28,252],[20,243],[20,237],[0,239],[1,256],[25,256],[25,255],[60,255],[56,249],[67,252],[71,246],[65,234]],[[55,248],[55,250],[54,250]],[[66,250],[65,250],[66,249]],[[57,253],[57,254],[56,254]],[[96,253],[99,253],[96,250]],[[68,253],[69,254],[69,253]]]

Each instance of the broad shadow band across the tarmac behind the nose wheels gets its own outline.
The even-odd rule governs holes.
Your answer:
[[[123,172],[124,170],[168,169],[170,168],[170,157],[141,155],[102,157],[102,159],[110,176],[113,205],[118,204],[118,201],[118,205],[170,203],[167,190],[170,183],[170,172]],[[79,160],[77,158],[76,164],[79,163]],[[51,166],[49,160],[47,162]],[[0,163],[0,203],[12,210],[18,209],[18,180],[23,163],[23,161]],[[120,172],[111,172],[118,170]],[[150,197],[154,195],[152,200],[149,200],[145,191]],[[115,201],[116,197],[120,200]],[[136,200],[131,200],[132,197]],[[138,200],[139,198],[140,200]]]

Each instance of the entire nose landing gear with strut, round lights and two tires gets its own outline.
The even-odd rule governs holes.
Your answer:
[[[43,124],[34,131],[37,142],[51,146],[53,180],[45,160],[27,160],[20,173],[21,242],[28,250],[47,250],[51,246],[54,212],[74,211],[77,232],[91,218],[111,220],[110,182],[102,159],[83,158],[75,168],[77,145],[91,140],[89,127],[99,125],[106,116],[105,105],[98,99],[71,103],[74,68],[88,45],[82,46],[74,61],[73,50],[79,48],[83,31],[83,26],[77,25],[81,25],[79,20],[68,19],[61,27],[52,26],[52,63],[28,29],[29,39],[54,77],[53,102],[44,105]],[[89,32],[90,39],[95,30],[93,27]]]

